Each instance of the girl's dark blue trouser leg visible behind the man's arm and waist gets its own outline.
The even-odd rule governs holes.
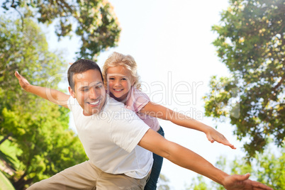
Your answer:
[[[160,135],[164,137],[164,131],[161,127],[160,130],[157,131],[157,133],[160,133]],[[157,189],[157,181],[158,178],[160,177],[162,162],[163,162],[163,157],[155,155],[155,153],[153,153],[152,172],[150,173],[150,179],[147,181],[147,184],[145,185],[145,190]]]

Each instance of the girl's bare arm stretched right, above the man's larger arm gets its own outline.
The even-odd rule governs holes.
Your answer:
[[[219,133],[214,128],[211,128],[208,125],[205,125],[199,121],[196,121],[194,118],[190,118],[189,116],[185,116],[182,113],[178,113],[176,111],[172,111],[169,108],[161,106],[159,104],[155,104],[149,101],[141,110],[140,113],[145,113],[149,116],[153,116],[155,118],[161,118],[167,121],[171,121],[177,125],[183,126],[185,128],[191,128],[194,130],[199,130],[206,134],[208,140],[211,143],[215,141],[221,143],[223,145],[227,145],[233,149],[235,146],[232,145],[228,140],[225,138],[224,135]]]

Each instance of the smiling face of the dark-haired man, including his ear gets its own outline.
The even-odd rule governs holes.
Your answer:
[[[105,104],[106,91],[98,70],[74,74],[74,91],[69,87],[69,92],[83,108],[84,116],[99,113]]]

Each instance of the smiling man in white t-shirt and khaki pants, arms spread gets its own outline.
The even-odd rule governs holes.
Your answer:
[[[79,139],[89,157],[89,161],[29,189],[143,189],[152,167],[151,152],[225,189],[271,189],[248,179],[250,174],[226,174],[195,152],[162,138],[135,113],[106,95],[101,70],[91,60],[78,60],[69,67],[70,95],[30,85],[18,72],[15,74],[26,91],[72,111]]]

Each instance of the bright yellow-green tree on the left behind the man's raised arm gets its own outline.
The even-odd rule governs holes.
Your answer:
[[[21,89],[18,70],[33,84],[57,88],[62,57],[50,52],[45,35],[28,18],[12,21],[0,17],[0,133],[21,152],[20,168],[11,181],[16,189],[50,177],[86,160],[79,139],[69,130],[69,110]],[[4,138],[8,139],[8,138]]]

